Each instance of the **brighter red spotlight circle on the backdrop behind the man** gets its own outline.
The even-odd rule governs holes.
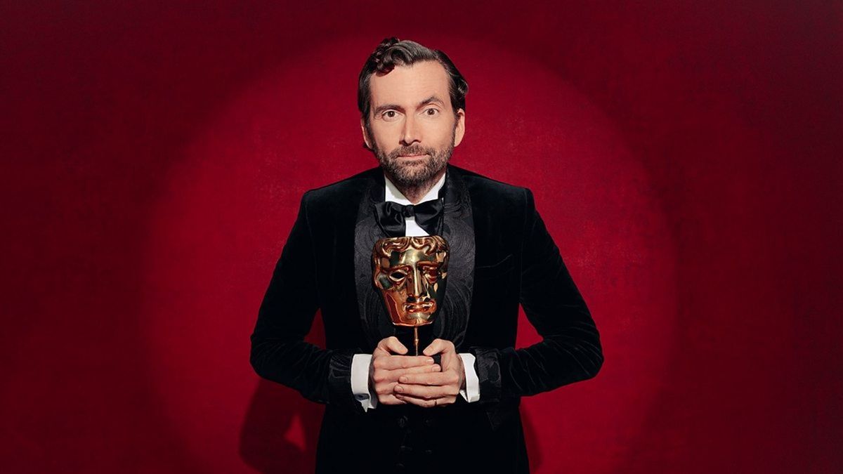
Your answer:
[[[452,162],[534,191],[604,344],[596,379],[524,398],[530,463],[613,471],[674,350],[675,245],[647,174],[540,57],[454,37],[429,44],[470,83]],[[249,336],[303,191],[376,165],[356,109],[374,46],[346,37],[287,57],[225,100],[167,176],[148,227],[141,337],[172,429],[207,471],[312,469],[320,407],[259,380]],[[518,344],[539,340],[522,315]]]

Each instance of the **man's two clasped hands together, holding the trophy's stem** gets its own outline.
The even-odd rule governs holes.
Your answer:
[[[372,353],[369,383],[379,403],[440,407],[457,400],[465,383],[465,369],[454,342],[434,339],[422,351],[424,355],[405,353],[407,348],[395,336],[382,339]],[[442,367],[430,357],[437,353],[442,354]]]

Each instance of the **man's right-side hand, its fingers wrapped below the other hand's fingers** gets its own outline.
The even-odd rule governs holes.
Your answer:
[[[454,403],[465,383],[463,358],[459,357],[454,342],[434,339],[423,353],[428,356],[441,353],[442,372],[401,375],[399,385],[395,385],[395,398],[419,407],[441,407]]]

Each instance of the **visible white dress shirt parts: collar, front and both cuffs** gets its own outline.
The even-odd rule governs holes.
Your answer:
[[[397,202],[405,206],[412,204],[385,175],[384,180],[386,181],[386,189],[384,190],[386,201]],[[439,190],[444,184],[445,176],[443,175],[436,185],[430,191],[427,191],[427,194],[421,198],[419,203],[438,199]],[[406,224],[405,235],[407,237],[429,235],[416,224],[415,217],[405,218],[404,221]],[[477,378],[474,368],[475,356],[471,353],[459,353],[459,357],[463,358],[463,367],[465,369],[465,389],[460,389],[459,395],[463,396],[465,401],[469,403],[478,401],[480,400],[480,379]],[[354,393],[354,397],[357,398],[357,401],[360,401],[363,411],[378,406],[378,395],[369,391],[368,376],[371,364],[372,354],[354,354],[352,358],[352,392]]]

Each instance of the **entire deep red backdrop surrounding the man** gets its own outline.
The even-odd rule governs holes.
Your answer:
[[[534,471],[840,471],[841,25],[4,3],[0,468],[309,470],[321,407],[260,380],[248,337],[302,192],[374,165],[357,73],[397,35],[464,73],[454,164],[535,192],[603,337],[597,378],[524,399]]]

